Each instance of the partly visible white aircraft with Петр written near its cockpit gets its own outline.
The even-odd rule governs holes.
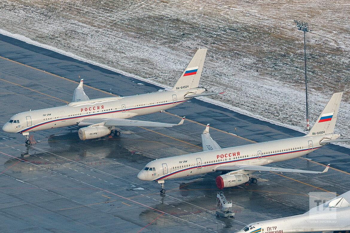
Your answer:
[[[304,214],[252,223],[236,233],[349,233],[349,203],[350,191],[347,191]]]

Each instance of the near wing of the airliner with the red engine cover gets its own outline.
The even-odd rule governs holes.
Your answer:
[[[295,173],[325,173],[328,172],[329,165],[322,171],[322,172],[316,172],[316,171],[308,171],[308,170],[300,170],[300,169],[289,169],[289,168],[279,168],[279,167],[265,167],[265,166],[258,166],[258,165],[223,165],[220,167],[217,167],[217,171],[228,171],[228,170],[239,170],[239,171],[264,171],[264,172],[295,172]]]

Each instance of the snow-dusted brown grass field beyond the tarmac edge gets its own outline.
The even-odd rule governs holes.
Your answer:
[[[203,99],[304,131],[303,34],[293,20],[313,23],[310,124],[344,91],[335,132],[350,137],[349,15],[340,0],[2,0],[0,33],[165,88],[206,47],[200,85],[226,93]]]

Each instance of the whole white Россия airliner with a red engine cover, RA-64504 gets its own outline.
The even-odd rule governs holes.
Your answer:
[[[257,179],[251,177],[256,171],[327,172],[329,165],[323,172],[263,165],[306,155],[331,142],[349,141],[350,139],[337,139],[341,135],[333,133],[342,95],[342,92],[333,94],[315,125],[305,136],[222,149],[210,137],[208,124],[202,134],[203,152],[153,160],[147,163],[137,177],[144,181],[157,181],[162,186],[160,192],[165,193],[165,180],[216,171],[228,172],[216,178],[219,189],[247,182],[257,183]]]

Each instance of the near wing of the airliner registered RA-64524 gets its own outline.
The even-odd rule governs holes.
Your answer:
[[[179,124],[169,124],[153,121],[137,121],[130,119],[119,118],[86,118],[79,122],[78,126],[87,126],[92,124],[103,124],[106,127],[110,126],[154,126],[154,127],[173,127],[175,125],[182,125],[185,117],[181,119]]]

